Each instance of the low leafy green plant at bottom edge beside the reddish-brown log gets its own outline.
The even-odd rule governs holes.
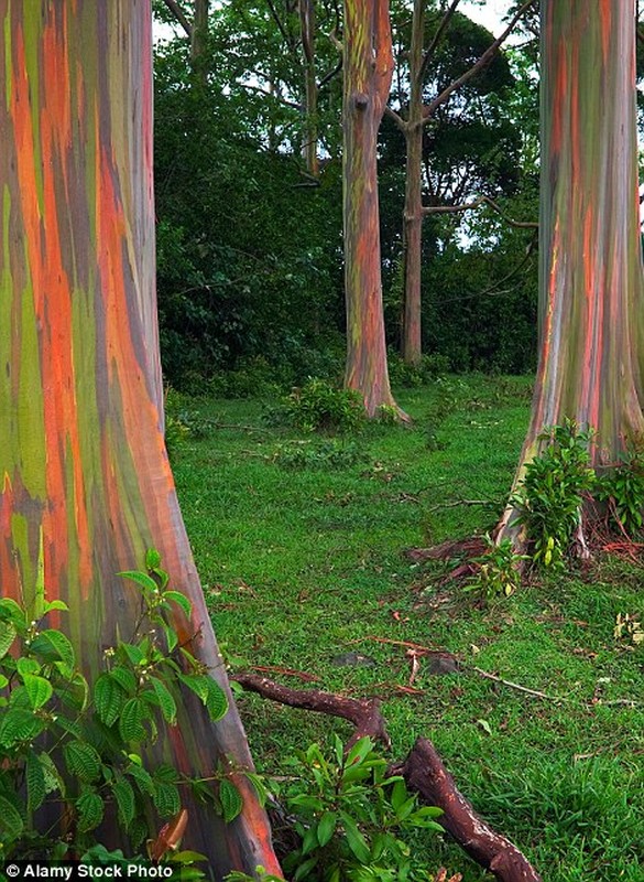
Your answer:
[[[388,774],[371,739],[360,739],[345,754],[336,736],[330,756],[312,744],[291,765],[294,775],[280,795],[299,837],[284,861],[294,882],[428,879],[403,837],[419,828],[443,831],[434,820],[441,811],[418,806],[404,779]]]

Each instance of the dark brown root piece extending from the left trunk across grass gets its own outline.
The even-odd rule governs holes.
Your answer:
[[[382,742],[385,747],[391,747],[384,718],[380,712],[380,701],[376,698],[356,699],[338,696],[334,692],[323,692],[320,689],[290,689],[287,686],[282,686],[268,677],[260,677],[256,674],[234,674],[230,679],[238,682],[249,692],[256,692],[262,698],[279,701],[280,704],[286,704],[290,708],[302,708],[303,710],[314,710],[318,713],[327,713],[330,717],[341,717],[343,720],[349,720],[356,727],[356,731],[348,746],[369,735],[375,741]]]

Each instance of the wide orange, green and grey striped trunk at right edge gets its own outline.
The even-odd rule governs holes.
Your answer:
[[[541,357],[515,484],[565,418],[597,431],[593,464],[644,430],[634,2],[542,0],[541,71]]]

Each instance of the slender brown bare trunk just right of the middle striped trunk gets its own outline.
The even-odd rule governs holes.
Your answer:
[[[410,47],[410,109],[403,133],[406,143],[405,174],[405,293],[403,309],[403,358],[417,365],[423,355],[421,325],[421,269],[423,255],[423,43],[425,0],[414,0]]]

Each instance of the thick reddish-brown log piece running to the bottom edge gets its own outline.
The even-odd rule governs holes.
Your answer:
[[[405,762],[393,771],[403,775],[424,802],[444,810],[438,822],[496,879],[501,882],[541,882],[541,875],[516,846],[478,817],[457,789],[432,742],[418,739]]]

